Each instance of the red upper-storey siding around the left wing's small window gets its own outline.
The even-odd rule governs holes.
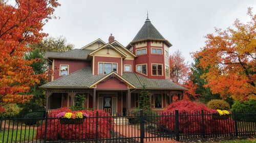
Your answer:
[[[56,80],[62,76],[59,75],[59,66],[60,65],[69,65],[69,74],[83,69],[85,67],[91,66],[90,61],[72,61],[72,60],[54,60],[54,76],[53,79]]]

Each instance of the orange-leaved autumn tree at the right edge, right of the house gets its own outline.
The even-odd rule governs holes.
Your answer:
[[[209,71],[202,75],[205,86],[222,98],[246,100],[256,96],[256,15],[251,8],[247,14],[251,18],[247,23],[237,19],[235,29],[216,29],[217,35],[208,34],[205,47],[193,55],[201,57],[198,66]]]

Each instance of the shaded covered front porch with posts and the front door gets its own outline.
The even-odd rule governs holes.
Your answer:
[[[183,98],[183,91],[174,90],[148,90],[150,91],[151,107],[156,112],[162,111],[170,103],[173,97],[178,100]],[[99,89],[47,89],[47,111],[61,107],[75,105],[77,94],[82,94],[86,98],[84,107],[88,110],[99,109],[111,115],[127,115],[134,108],[139,108],[139,96],[141,90],[99,90]]]

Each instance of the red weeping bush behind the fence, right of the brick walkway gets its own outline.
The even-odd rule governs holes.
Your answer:
[[[204,104],[181,100],[170,104],[164,111],[164,116],[158,124],[169,131],[175,131],[175,110],[179,110],[179,131],[182,133],[202,133],[202,110],[204,111],[204,125],[206,133],[223,133],[233,131],[233,121],[212,120],[211,110]],[[193,115],[193,116],[191,116]]]

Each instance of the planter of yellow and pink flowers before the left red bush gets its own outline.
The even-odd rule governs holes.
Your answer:
[[[85,112],[60,112],[57,115],[60,124],[82,124],[84,118],[88,118]]]

